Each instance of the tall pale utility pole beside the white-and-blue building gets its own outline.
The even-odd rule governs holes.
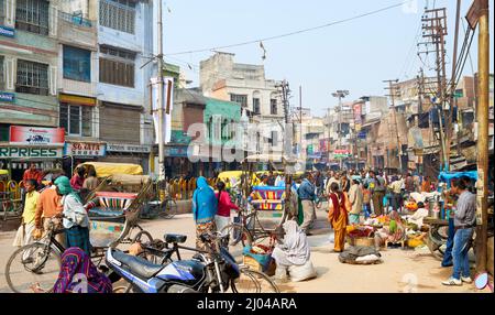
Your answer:
[[[158,181],[165,181],[165,148],[163,139],[164,104],[163,104],[163,26],[162,0],[158,0]]]

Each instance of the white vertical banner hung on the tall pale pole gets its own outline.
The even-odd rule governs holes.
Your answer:
[[[153,121],[155,126],[155,143],[158,143],[158,78],[151,78],[151,97],[153,108]],[[163,119],[163,142],[170,142],[172,138],[172,109],[174,105],[174,78],[163,78],[163,106],[164,106],[164,119]]]

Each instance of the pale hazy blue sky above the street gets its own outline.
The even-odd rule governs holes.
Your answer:
[[[210,50],[286,34],[402,2],[404,0],[167,0],[164,2],[165,61],[180,66],[187,79],[193,80],[188,87],[199,86],[199,62],[213,52],[175,53]],[[301,86],[302,107],[310,108],[314,116],[323,116],[327,108],[337,105],[338,100],[331,94],[338,89],[349,90],[350,95],[344,101],[351,101],[362,96],[385,95],[383,80],[414,78],[420,66],[426,68],[427,75],[433,74],[428,70],[435,66],[433,55],[428,58],[424,56],[422,61],[417,56],[416,44],[422,42],[420,26],[426,6],[430,9],[447,8],[447,73],[450,77],[455,2],[410,0],[404,6],[364,18],[264,41],[264,61],[258,43],[220,51],[235,54],[235,63],[263,64],[268,79],[287,79],[293,90],[290,106],[299,106]],[[471,3],[471,0],[462,1],[461,18]],[[491,4],[491,32],[494,30],[493,12]],[[465,21],[464,25],[468,28]],[[463,35],[461,23],[459,51]],[[493,47],[491,41],[492,55]],[[468,61],[465,75],[477,70],[477,32],[470,52],[473,66]]]

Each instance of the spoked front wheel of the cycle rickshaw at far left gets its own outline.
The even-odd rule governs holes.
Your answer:
[[[61,272],[61,254],[44,243],[21,247],[9,258],[6,265],[6,280],[15,293],[33,293],[36,283],[51,292]]]

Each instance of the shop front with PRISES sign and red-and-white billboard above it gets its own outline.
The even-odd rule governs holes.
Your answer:
[[[40,170],[62,169],[64,141],[62,128],[11,126],[9,142],[0,143],[0,164],[16,182],[30,163]]]

